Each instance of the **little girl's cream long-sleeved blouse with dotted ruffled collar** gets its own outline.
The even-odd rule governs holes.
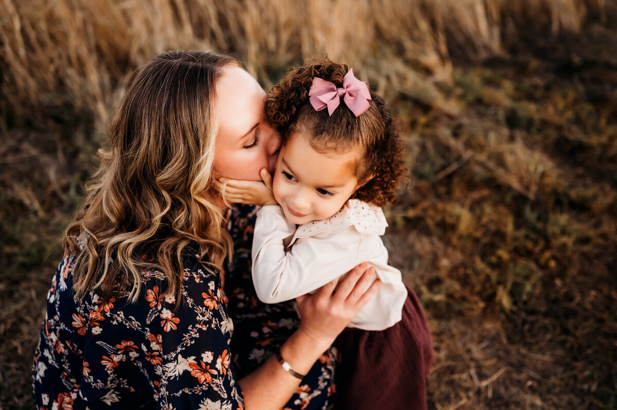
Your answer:
[[[278,205],[257,211],[252,274],[257,297],[279,303],[313,292],[357,264],[374,266],[381,286],[349,327],[383,330],[400,321],[407,289],[400,271],[387,264],[380,236],[387,222],[381,208],[357,199],[334,216],[297,226]]]

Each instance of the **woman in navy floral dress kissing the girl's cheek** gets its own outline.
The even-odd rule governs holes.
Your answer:
[[[209,52],[161,54],[133,74],[65,233],[35,353],[39,408],[280,409],[294,393],[288,406],[305,408],[307,389],[327,390],[323,377],[299,383],[379,286],[365,266],[297,299],[302,321],[288,322],[277,355],[257,367],[240,353],[242,377],[231,361],[234,346],[254,345],[230,348],[223,292],[225,264],[248,272],[238,247],[250,219],[229,215],[230,236],[213,180],[273,168],[280,142],[264,96],[236,60]],[[232,240],[238,257],[226,263]],[[242,321],[255,306],[226,289]]]

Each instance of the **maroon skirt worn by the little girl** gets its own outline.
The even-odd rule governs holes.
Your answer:
[[[400,322],[379,331],[348,327],[337,338],[336,409],[426,409],[433,342],[418,297],[405,287]]]

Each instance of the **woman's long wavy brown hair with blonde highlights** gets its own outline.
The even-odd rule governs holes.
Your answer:
[[[131,76],[109,150],[99,150],[101,167],[63,239],[76,257],[78,296],[99,290],[109,300],[120,285],[136,301],[143,271],[159,269],[164,294],[180,301],[184,253],[216,269],[231,254],[222,211],[205,195],[214,189],[215,84],[228,65],[240,66],[211,52],[171,51]]]

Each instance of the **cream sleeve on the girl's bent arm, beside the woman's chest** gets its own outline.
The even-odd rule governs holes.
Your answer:
[[[257,212],[253,239],[253,282],[265,303],[279,303],[313,292],[358,264],[360,235],[353,227],[299,238],[288,250],[284,239],[295,231],[280,207]]]

